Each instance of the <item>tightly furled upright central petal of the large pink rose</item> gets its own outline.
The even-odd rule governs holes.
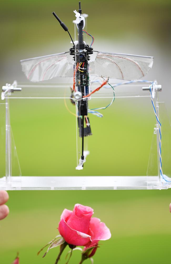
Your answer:
[[[92,215],[93,209],[91,207],[76,204],[73,213],[66,222],[72,229],[88,234]]]

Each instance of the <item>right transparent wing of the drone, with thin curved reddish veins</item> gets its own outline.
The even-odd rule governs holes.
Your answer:
[[[89,65],[90,73],[96,76],[135,80],[144,77],[153,66],[153,57],[96,52],[94,62]]]

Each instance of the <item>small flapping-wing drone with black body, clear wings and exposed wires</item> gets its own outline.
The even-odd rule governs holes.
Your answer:
[[[56,13],[53,12],[54,17],[56,17],[62,28],[67,31],[71,37],[73,46],[69,51],[21,60],[21,65],[22,71],[25,73],[27,79],[32,82],[45,81],[54,77],[73,78],[71,102],[74,104],[77,103],[79,136],[82,138],[82,155],[76,169],[83,169],[83,163],[86,161],[84,137],[92,135],[88,113],[97,116],[100,115],[100,113],[94,111],[94,109],[92,111],[88,108],[88,101],[91,95],[99,91],[103,86],[109,86],[114,92],[115,86],[110,84],[109,78],[119,79],[121,82],[120,84],[122,84],[123,81],[125,81],[125,84],[137,82],[138,79],[144,77],[152,68],[153,57],[94,51],[92,48],[94,37],[84,30],[85,18],[84,14],[82,14],[81,2],[79,2],[78,12],[75,10],[74,13],[76,20],[73,22],[77,27],[78,41],[73,41],[68,27],[60,20]],[[83,39],[83,34],[85,33],[92,37],[90,45],[86,44]],[[69,56],[73,57],[72,62],[69,62]],[[94,56],[95,59],[92,60],[91,56]],[[92,76],[102,78],[102,83],[94,90],[91,90],[90,87]],[[112,102],[113,101],[114,100],[112,100]],[[112,102],[108,106],[110,106]],[[105,109],[107,107],[100,109]]]

